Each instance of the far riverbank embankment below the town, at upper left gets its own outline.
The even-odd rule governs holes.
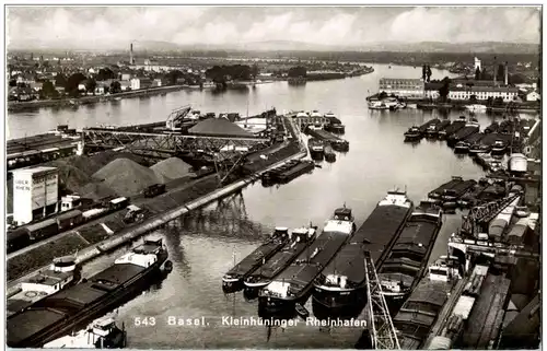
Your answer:
[[[94,95],[94,96],[82,96],[78,98],[61,98],[61,100],[40,100],[32,102],[8,102],[8,112],[21,112],[26,109],[35,109],[43,107],[73,107],[79,105],[96,104],[110,101],[118,101],[121,98],[139,97],[139,96],[152,96],[158,94],[166,94],[170,92],[176,92],[183,89],[191,89],[189,85],[168,85],[168,86],[158,86],[151,89],[142,89],[130,92],[117,93],[112,95]],[[197,86],[196,89],[199,89]]]

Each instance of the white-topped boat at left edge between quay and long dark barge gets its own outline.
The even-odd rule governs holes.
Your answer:
[[[7,301],[7,313],[11,316],[57,291],[77,284],[81,278],[81,267],[75,256],[55,258],[48,270],[37,273],[21,283],[21,292]]]

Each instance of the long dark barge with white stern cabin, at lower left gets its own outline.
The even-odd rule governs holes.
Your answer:
[[[161,277],[167,261],[162,239],[146,239],[113,266],[72,288],[49,295],[8,317],[7,344],[40,348],[112,311]]]

